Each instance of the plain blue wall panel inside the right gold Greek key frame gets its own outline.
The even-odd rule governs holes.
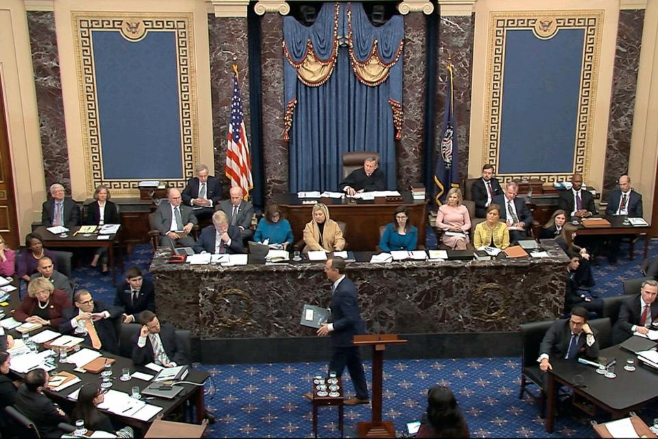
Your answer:
[[[572,171],[584,34],[507,31],[499,174]]]

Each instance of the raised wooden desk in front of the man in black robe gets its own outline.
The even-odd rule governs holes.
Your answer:
[[[295,239],[301,239],[304,226],[311,220],[314,204],[302,204],[295,193],[278,193],[273,196],[273,201],[290,222]],[[402,202],[383,204],[352,198],[321,198],[317,201],[327,205],[331,219],[347,224],[345,241],[348,241],[350,250],[374,250],[379,244],[380,226],[393,222],[393,213],[398,206],[409,209],[409,224],[418,228],[418,244],[425,244],[426,202],[413,200],[411,192],[402,192]]]

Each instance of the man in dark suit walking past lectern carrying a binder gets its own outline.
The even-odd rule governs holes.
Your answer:
[[[317,335],[331,337],[333,352],[329,361],[329,372],[336,372],[337,377],[341,377],[345,366],[348,366],[356,395],[346,399],[344,403],[367,404],[370,399],[361,352],[358,346],[352,344],[354,335],[365,333],[365,324],[359,315],[356,287],[345,276],[345,260],[342,258],[328,259],[324,265],[324,273],[332,282],[331,322],[322,324]],[[313,399],[313,394],[305,396]]]

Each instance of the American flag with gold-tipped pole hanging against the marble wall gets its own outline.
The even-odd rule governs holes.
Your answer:
[[[249,158],[249,144],[245,134],[242,98],[238,85],[238,69],[233,66],[233,97],[231,99],[230,121],[228,123],[228,148],[226,150],[226,176],[231,180],[231,186],[242,188],[244,198],[249,195],[249,189],[254,187],[252,181],[252,160]]]

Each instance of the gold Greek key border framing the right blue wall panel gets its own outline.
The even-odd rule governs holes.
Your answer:
[[[500,129],[501,112],[504,97],[503,76],[505,43],[509,29],[533,30],[537,20],[552,17],[560,29],[584,29],[583,60],[581,64],[581,84],[578,91],[578,112],[576,114],[576,139],[573,169],[565,174],[501,174],[500,166]],[[487,69],[485,91],[485,123],[483,137],[483,163],[496,167],[496,176],[503,182],[538,179],[543,182],[568,180],[574,172],[589,176],[590,157],[592,153],[592,128],[594,126],[594,107],[598,84],[598,67],[602,38],[602,11],[533,11],[533,12],[491,12],[489,14],[489,38],[487,53],[491,60]]]

